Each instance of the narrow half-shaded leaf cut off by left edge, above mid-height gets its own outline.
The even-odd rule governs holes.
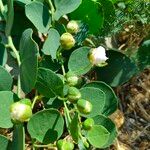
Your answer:
[[[5,46],[0,43],[0,65],[4,66],[7,61],[7,51],[5,49]]]

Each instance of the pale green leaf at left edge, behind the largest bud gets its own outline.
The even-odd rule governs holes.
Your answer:
[[[14,102],[14,94],[10,91],[0,91],[0,127],[11,128],[9,107]]]

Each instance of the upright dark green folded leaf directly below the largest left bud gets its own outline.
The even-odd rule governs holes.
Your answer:
[[[25,150],[25,131],[23,123],[14,125],[12,150]]]

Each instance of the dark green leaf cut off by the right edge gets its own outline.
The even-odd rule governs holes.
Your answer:
[[[150,67],[150,40],[140,46],[136,54],[136,61],[141,71]]]

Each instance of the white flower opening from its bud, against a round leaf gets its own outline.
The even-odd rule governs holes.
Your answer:
[[[89,60],[95,66],[105,66],[107,65],[106,60],[106,50],[104,47],[99,46],[98,48],[93,48],[89,53]]]

